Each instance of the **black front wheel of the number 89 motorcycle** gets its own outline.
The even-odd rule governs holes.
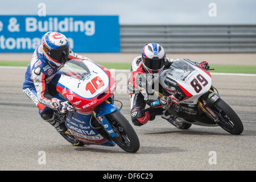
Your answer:
[[[240,135],[243,132],[243,124],[236,112],[221,99],[214,103],[214,105],[218,113],[220,113],[218,125],[230,134]]]

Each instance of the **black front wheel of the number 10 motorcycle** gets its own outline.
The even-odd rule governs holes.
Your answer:
[[[139,139],[127,119],[118,110],[106,115],[106,117],[117,134],[116,137],[112,138],[114,142],[126,152],[137,152]]]

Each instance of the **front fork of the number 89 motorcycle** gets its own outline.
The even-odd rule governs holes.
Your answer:
[[[220,96],[210,89],[208,93],[205,93],[200,100],[197,101],[199,108],[216,123],[220,122],[220,118],[218,117],[219,114],[212,110],[212,105],[219,99]]]

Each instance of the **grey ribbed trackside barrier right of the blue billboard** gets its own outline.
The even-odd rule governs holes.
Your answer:
[[[121,52],[149,42],[166,52],[256,52],[256,25],[121,25]]]

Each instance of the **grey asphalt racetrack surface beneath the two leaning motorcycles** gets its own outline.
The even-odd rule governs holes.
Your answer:
[[[212,76],[213,86],[243,122],[241,135],[220,127],[192,125],[179,130],[157,117],[144,126],[133,125],[141,147],[129,154],[118,146],[69,144],[23,94],[24,72],[0,68],[0,170],[256,169],[256,77]],[[115,98],[123,102],[122,114],[131,122],[129,96],[117,93]],[[46,164],[38,163],[40,151],[46,154]],[[216,164],[209,164],[210,151],[216,152]]]

